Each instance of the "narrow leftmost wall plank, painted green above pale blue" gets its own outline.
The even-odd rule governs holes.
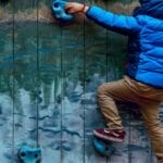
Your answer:
[[[4,12],[12,12],[9,7]],[[5,17],[5,16],[4,16]],[[5,27],[0,30],[0,160],[1,162],[11,162],[13,158],[13,75],[12,58],[13,53],[13,29]],[[4,63],[5,62],[5,63]]]

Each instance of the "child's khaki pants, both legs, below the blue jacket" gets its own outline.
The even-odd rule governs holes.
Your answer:
[[[159,106],[163,101],[163,89],[138,83],[128,76],[98,88],[98,102],[110,129],[123,129],[115,101],[134,102],[140,106],[152,147],[160,163],[163,163],[163,126],[159,118]]]

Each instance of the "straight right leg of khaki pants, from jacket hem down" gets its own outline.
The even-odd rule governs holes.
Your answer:
[[[156,89],[141,83],[135,83],[140,106],[152,148],[155,152],[159,163],[163,163],[163,125],[160,121],[160,104],[163,102],[163,89]],[[133,86],[133,85],[131,85]]]

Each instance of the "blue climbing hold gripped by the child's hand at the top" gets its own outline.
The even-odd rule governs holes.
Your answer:
[[[66,1],[64,0],[54,0],[52,2],[52,12],[58,20],[63,22],[71,22],[74,17],[72,14],[65,12],[65,4]]]

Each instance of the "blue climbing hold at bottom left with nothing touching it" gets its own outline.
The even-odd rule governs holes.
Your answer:
[[[21,163],[39,163],[41,161],[41,149],[23,146],[18,150]]]

